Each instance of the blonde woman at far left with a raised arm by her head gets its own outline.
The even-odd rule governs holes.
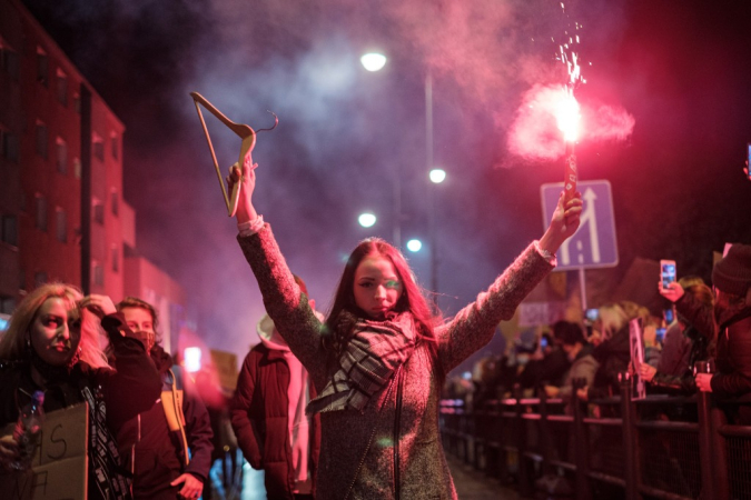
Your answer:
[[[99,328],[117,362],[99,349]],[[113,446],[125,422],[159,398],[159,374],[144,344],[106,296],[83,297],[71,284],[48,283],[18,304],[0,340],[0,427],[16,422],[34,391],[45,412],[89,403],[88,498],[130,499]],[[18,459],[13,436],[0,437],[0,466]]]

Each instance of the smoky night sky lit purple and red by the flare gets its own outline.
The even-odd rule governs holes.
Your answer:
[[[138,249],[184,284],[189,314],[215,349],[244,356],[257,342],[263,303],[190,91],[257,129],[271,123],[267,109],[278,114],[279,127],[258,136],[254,200],[322,310],[357,242],[392,240],[396,172],[405,241],[427,242],[435,189],[447,314],[542,234],[540,186],[561,180],[563,146],[543,131],[547,159],[521,157],[513,131],[531,89],[565,82],[555,54],[566,32],[580,36],[585,118],[604,109],[635,123],[577,146],[581,179],[613,187],[617,270],[635,257],[666,258],[679,276],[709,279],[713,250],[751,243],[742,172],[751,2],[24,3],[125,122],[125,198],[138,214]],[[370,49],[389,58],[377,73],[358,62]],[[448,173],[437,187],[426,180],[428,71],[434,158]],[[239,140],[218,124],[210,131],[226,170]],[[379,218],[367,230],[356,222],[366,209]],[[408,257],[429,287],[428,253]]]

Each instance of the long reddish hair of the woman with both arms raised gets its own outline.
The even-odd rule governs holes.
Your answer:
[[[326,330],[329,334],[324,338],[324,346],[334,351],[333,353],[337,357],[346,346],[352,329],[340,331],[342,329],[338,328],[342,311],[348,311],[357,318],[368,318],[368,314],[358,308],[355,302],[355,271],[357,271],[357,267],[363,259],[368,256],[382,256],[392,261],[403,286],[402,297],[394,306],[394,312],[411,312],[417,327],[417,336],[421,339],[434,342],[433,329],[439,323],[441,317],[431,311],[431,307],[425,300],[421,287],[415,282],[406,259],[402,252],[385,240],[368,238],[363,240],[347,259],[347,264],[334,296],[334,304],[326,319]]]

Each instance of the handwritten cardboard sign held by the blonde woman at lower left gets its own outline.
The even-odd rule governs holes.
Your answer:
[[[87,403],[45,416],[40,444],[31,470],[6,472],[0,469],[0,497],[3,500],[86,500],[88,471]],[[14,423],[0,430],[13,432]]]

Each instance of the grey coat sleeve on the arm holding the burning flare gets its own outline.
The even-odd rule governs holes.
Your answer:
[[[493,338],[495,327],[510,320],[518,304],[553,269],[530,244],[477,299],[436,329],[438,361],[447,373]]]

